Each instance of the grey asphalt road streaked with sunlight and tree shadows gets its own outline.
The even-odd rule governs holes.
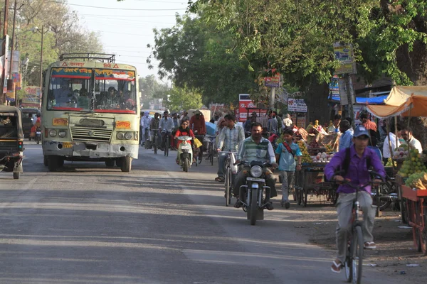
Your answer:
[[[344,283],[334,251],[310,245],[277,201],[256,226],[225,207],[216,164],[183,173],[176,152],[144,149],[131,173],[49,173],[41,146],[25,148],[21,178],[0,173],[0,283]],[[398,282],[364,269],[363,283]]]

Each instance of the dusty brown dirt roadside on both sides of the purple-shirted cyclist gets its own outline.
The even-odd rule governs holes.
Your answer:
[[[307,207],[291,202],[288,213],[294,219],[295,230],[310,236],[312,244],[335,250],[334,229],[337,213],[329,202],[317,197],[311,197]],[[406,227],[401,224],[399,211],[389,208],[382,214],[383,216],[376,218],[374,226],[377,248],[374,251],[365,251],[365,263],[375,266],[376,270],[387,275],[401,277],[404,282],[425,283],[427,256],[413,248],[411,229],[399,228]],[[367,266],[367,269],[371,268]]]

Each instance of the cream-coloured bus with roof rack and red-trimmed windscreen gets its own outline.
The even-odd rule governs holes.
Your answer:
[[[115,55],[68,53],[47,68],[41,106],[43,163],[103,161],[130,172],[138,158],[137,70]]]

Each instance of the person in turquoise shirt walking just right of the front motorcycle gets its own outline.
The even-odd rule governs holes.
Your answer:
[[[293,143],[294,133],[292,129],[283,130],[283,138],[285,141],[278,145],[275,151],[276,160],[279,161],[280,177],[282,178],[282,207],[288,209],[290,202],[288,199],[288,190],[293,185],[293,180],[296,170],[301,170],[301,150],[298,144]],[[295,162],[297,157],[297,163]]]

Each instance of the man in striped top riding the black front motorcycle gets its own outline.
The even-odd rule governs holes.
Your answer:
[[[270,163],[274,168],[278,167],[278,164],[275,163],[275,153],[273,150],[273,146],[271,145],[268,139],[263,138],[263,126],[259,122],[255,122],[252,124],[251,128],[251,136],[246,138],[237,154],[236,164],[240,163],[241,160],[245,160],[246,162],[251,163],[253,160],[258,160],[263,163]],[[234,184],[233,194],[237,198],[236,204],[234,207],[240,208],[242,207],[241,199],[244,200],[246,195],[245,187],[242,187],[243,196],[239,197],[239,190],[242,185],[246,184],[246,177],[248,177],[248,170],[250,167],[245,166],[240,173],[238,173],[236,177],[236,183]],[[265,185],[270,187],[270,197],[265,197],[265,201],[267,204],[265,207],[268,210],[273,210],[273,204],[269,201],[271,197],[278,196],[278,193],[275,190],[275,178],[273,172],[270,169],[265,170]]]

